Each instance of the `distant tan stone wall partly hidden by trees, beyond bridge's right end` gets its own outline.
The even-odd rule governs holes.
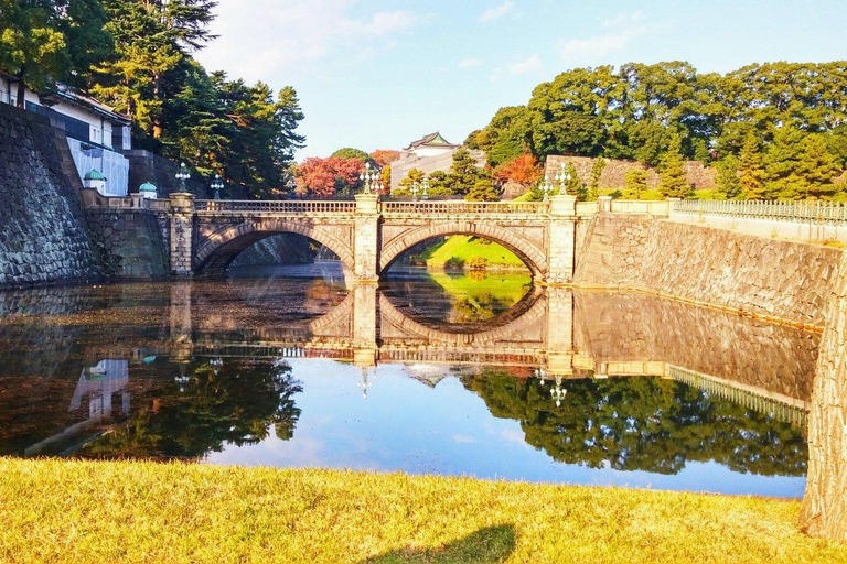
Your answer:
[[[550,155],[547,158],[544,174],[550,182],[556,182],[556,173],[559,172],[561,163],[573,163],[580,180],[588,184],[591,180],[591,167],[594,165],[594,159],[590,156],[561,156]],[[658,173],[655,169],[644,166],[637,161],[625,159],[607,159],[603,173],[600,175],[600,186],[603,188],[623,189],[626,186],[626,173],[641,169],[647,172],[647,188],[658,188]],[[705,166],[699,161],[688,161],[685,163],[685,176],[688,184],[694,189],[710,189],[715,187],[715,169]]]

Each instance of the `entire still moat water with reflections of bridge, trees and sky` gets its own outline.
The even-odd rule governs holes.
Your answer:
[[[798,497],[818,339],[519,273],[347,289],[331,262],[7,292],[0,455]]]

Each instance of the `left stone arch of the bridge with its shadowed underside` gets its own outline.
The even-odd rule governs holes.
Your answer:
[[[308,220],[267,218],[248,219],[206,236],[194,256],[194,271],[225,270],[244,249],[279,234],[299,234],[313,239],[337,254],[346,269],[353,269],[351,243],[330,229]]]

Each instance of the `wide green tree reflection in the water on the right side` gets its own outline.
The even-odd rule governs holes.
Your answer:
[[[526,442],[553,458],[592,468],[676,474],[687,460],[735,471],[802,476],[801,430],[660,378],[568,380],[557,408],[549,383],[497,371],[463,378],[492,414],[521,422]]]

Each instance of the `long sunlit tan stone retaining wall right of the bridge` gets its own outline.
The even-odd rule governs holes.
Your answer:
[[[600,214],[575,283],[654,292],[821,328],[839,249],[645,216]]]

